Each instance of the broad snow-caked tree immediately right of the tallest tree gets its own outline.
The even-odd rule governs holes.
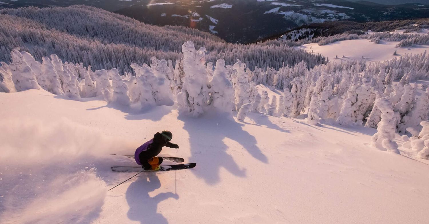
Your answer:
[[[231,112],[234,105],[234,89],[227,79],[225,61],[218,59],[213,76],[208,84],[211,93],[211,104],[221,111]]]

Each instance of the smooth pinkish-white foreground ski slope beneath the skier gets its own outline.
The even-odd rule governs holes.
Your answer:
[[[341,56],[360,58],[357,43],[392,53],[396,44],[349,42],[312,49],[342,46]],[[0,108],[2,224],[427,223],[428,161],[370,147],[375,129],[264,114],[190,118],[175,106],[135,114],[43,90],[0,93]],[[107,191],[133,175],[110,166],[134,165],[110,154],[133,154],[163,129],[180,148],[160,155],[197,166],[144,172]]]

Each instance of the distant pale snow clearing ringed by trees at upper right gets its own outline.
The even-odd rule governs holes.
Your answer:
[[[318,43],[304,44],[296,47],[315,54],[319,53],[329,58],[330,61],[341,63],[341,61],[361,60],[362,56],[367,61],[387,61],[403,54],[420,54],[429,49],[427,45],[416,45],[411,49],[397,48],[396,41],[383,41],[376,44],[367,39],[343,40],[327,45],[319,46]],[[393,53],[396,51],[396,55]],[[335,57],[338,55],[338,58]],[[342,56],[345,56],[344,58]]]

